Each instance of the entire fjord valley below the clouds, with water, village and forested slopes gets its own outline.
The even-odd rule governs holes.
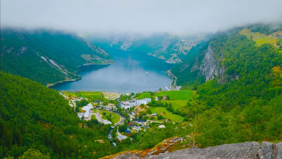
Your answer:
[[[35,150],[49,158],[152,158],[249,142],[279,147],[281,29],[235,27],[189,44],[169,34],[91,44],[1,30],[0,158]],[[175,46],[178,53],[169,49]],[[175,58],[182,60],[164,60]]]

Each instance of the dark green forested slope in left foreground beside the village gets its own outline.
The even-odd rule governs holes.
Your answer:
[[[0,158],[21,156],[29,148],[51,158],[108,155],[110,125],[78,119],[63,96],[37,82],[3,72],[0,80]],[[83,122],[87,128],[81,128]]]

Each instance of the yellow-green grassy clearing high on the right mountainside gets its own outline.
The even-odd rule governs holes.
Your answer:
[[[246,28],[241,30],[240,34],[246,35],[249,39],[251,39],[251,36],[252,36],[253,40],[256,42],[255,45],[258,45],[258,46],[264,43],[276,45],[276,42],[279,40],[279,39],[275,39],[274,37],[272,37],[272,34],[267,36],[259,32],[256,32],[256,33],[251,32],[251,29],[246,29]]]

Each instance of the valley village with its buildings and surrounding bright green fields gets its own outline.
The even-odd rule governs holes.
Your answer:
[[[180,95],[183,92],[168,91],[169,87],[164,87],[164,91],[161,90],[160,88],[156,92],[142,92],[134,95],[128,93],[125,96],[117,92],[61,91],[59,93],[69,101],[70,107],[78,110],[77,115],[81,120],[88,121],[96,119],[98,122],[110,124],[112,128],[117,127],[116,139],[121,142],[127,137],[130,137],[132,132],[144,133],[150,130],[150,124],[152,122],[159,124],[159,128],[164,128],[165,126],[162,124],[164,122],[168,122],[169,120],[181,122],[184,119],[179,115],[172,114],[164,107],[149,106],[152,100],[167,102],[171,98],[169,95],[174,97],[176,92],[178,94],[180,92]],[[155,95],[155,97],[152,95]],[[121,97],[127,97],[129,100],[120,100]],[[81,106],[81,102],[85,104]],[[177,102],[180,101],[174,100],[171,102],[175,104],[175,107],[178,107]],[[184,106],[184,103],[187,101],[184,100],[181,102]],[[79,106],[77,105],[78,103]],[[87,127],[87,125],[82,125],[81,127]]]

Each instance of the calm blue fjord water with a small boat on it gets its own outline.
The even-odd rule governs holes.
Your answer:
[[[77,73],[82,79],[52,86],[56,90],[130,92],[156,91],[170,85],[172,80],[165,73],[175,64],[162,59],[128,50],[105,48],[115,60],[110,65],[80,66]],[[148,72],[148,75],[146,75]]]

